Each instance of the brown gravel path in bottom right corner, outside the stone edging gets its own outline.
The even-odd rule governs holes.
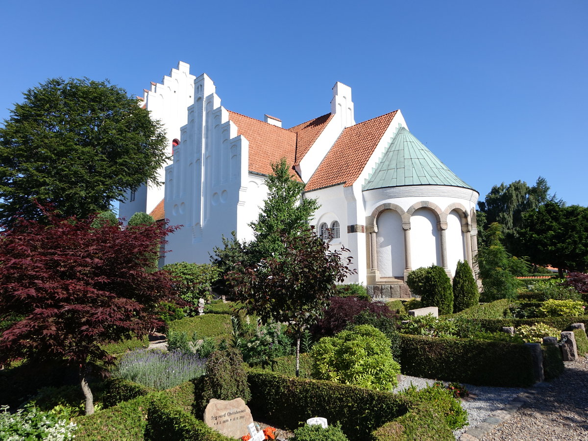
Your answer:
[[[566,370],[559,378],[482,438],[529,440],[588,440],[588,358],[566,362]]]

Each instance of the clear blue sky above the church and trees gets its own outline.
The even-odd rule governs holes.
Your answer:
[[[142,95],[179,60],[226,108],[286,127],[329,112],[341,81],[357,122],[401,109],[481,199],[542,175],[588,206],[586,0],[21,0],[1,14],[0,121],[47,78]]]

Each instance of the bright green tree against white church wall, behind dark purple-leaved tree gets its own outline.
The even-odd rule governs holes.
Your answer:
[[[285,249],[280,236],[307,227],[310,217],[319,208],[316,199],[303,197],[305,185],[295,178],[285,158],[272,164],[272,171],[266,181],[268,196],[258,220],[250,224],[254,240],[249,248],[255,262],[279,255]]]

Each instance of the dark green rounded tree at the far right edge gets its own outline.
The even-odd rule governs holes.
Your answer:
[[[523,218],[522,248],[533,263],[558,268],[560,277],[588,269],[588,208],[547,202]]]

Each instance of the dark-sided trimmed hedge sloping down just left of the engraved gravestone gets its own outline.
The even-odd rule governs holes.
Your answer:
[[[197,419],[168,396],[154,394],[149,403],[145,440],[232,441]]]

